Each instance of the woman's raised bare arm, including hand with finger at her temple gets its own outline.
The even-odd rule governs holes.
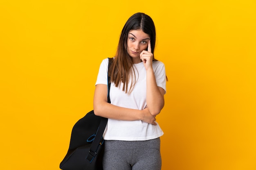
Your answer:
[[[156,116],[164,107],[164,89],[158,87],[153,70],[153,54],[151,53],[150,41],[148,42],[148,51],[144,50],[140,54],[146,69],[146,102],[148,111]]]

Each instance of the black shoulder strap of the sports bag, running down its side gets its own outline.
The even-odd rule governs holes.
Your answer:
[[[112,60],[113,58],[108,58],[108,70],[110,68],[110,65],[112,64]],[[110,85],[111,85],[111,81],[108,73],[108,103],[110,103],[110,96],[109,96]],[[89,150],[88,156],[86,157],[86,159],[90,161],[90,163],[92,162],[94,157],[97,155],[97,149],[99,145],[103,144],[103,133],[105,131],[107,122],[108,122],[108,118],[103,118],[103,117],[101,118],[101,122],[99,124],[99,128],[97,130],[96,136],[92,142],[92,146]]]

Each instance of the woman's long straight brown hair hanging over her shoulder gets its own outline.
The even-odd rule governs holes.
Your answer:
[[[155,24],[150,16],[144,13],[135,13],[127,20],[121,31],[117,53],[112,65],[110,66],[110,81],[114,82],[116,87],[120,87],[121,83],[124,83],[122,90],[126,93],[130,93],[132,91],[135,85],[134,80],[136,80],[136,78],[133,78],[133,76],[135,77],[135,70],[132,67],[132,57],[130,57],[127,52],[128,33],[130,30],[140,29],[150,36],[151,52],[154,54],[156,35]],[[157,60],[153,57],[153,61]],[[131,80],[131,85],[128,88],[129,80]]]

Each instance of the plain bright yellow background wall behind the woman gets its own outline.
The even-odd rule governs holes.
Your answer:
[[[169,79],[162,170],[256,170],[255,0],[1,0],[2,170],[58,170],[136,12]]]

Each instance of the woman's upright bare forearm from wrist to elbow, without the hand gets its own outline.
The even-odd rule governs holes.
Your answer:
[[[159,87],[157,87],[153,70],[147,70],[146,78],[147,107],[148,111],[155,116],[159,114],[164,107],[164,95],[163,92],[160,92]]]

